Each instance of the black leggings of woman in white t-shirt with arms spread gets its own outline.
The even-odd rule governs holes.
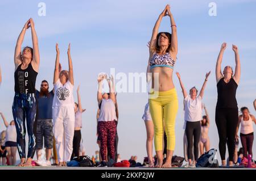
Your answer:
[[[187,121],[186,123],[186,129],[185,133],[188,140],[188,159],[192,159],[192,147],[194,146],[194,155],[195,155],[195,161],[198,158],[199,153],[199,140],[200,140],[200,134],[201,134],[201,125],[200,121]],[[194,138],[194,142],[193,142]]]

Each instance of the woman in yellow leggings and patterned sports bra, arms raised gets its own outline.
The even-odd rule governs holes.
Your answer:
[[[172,34],[159,32],[164,16],[170,17]],[[150,40],[150,73],[152,86],[148,99],[150,113],[154,123],[154,143],[158,157],[156,167],[171,167],[171,158],[175,149],[175,119],[178,110],[177,93],[172,81],[172,72],[177,55],[177,30],[170,6],[167,5],[159,15]],[[159,77],[159,80],[158,80]],[[158,96],[155,96],[158,95]],[[164,110],[163,110],[164,108]],[[163,164],[163,120],[167,135],[167,158]]]

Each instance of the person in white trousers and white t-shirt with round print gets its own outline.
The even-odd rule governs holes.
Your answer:
[[[73,99],[73,66],[68,45],[69,70],[59,74],[59,46],[56,44],[56,62],[54,70],[54,97],[52,104],[53,133],[56,141],[58,166],[66,166],[73,151],[73,136],[75,130],[75,102]]]

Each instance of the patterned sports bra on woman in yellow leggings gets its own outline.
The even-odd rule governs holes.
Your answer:
[[[159,55],[157,53],[154,53],[151,60],[150,60],[150,69],[155,68],[155,67],[167,67],[167,68],[171,68],[174,69],[174,64],[175,64],[175,60],[172,59],[170,53],[166,53],[163,55]]]

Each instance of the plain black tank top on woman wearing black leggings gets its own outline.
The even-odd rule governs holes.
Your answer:
[[[233,78],[228,83],[221,78],[217,83],[218,100],[217,108],[238,108],[237,107],[237,83]]]

